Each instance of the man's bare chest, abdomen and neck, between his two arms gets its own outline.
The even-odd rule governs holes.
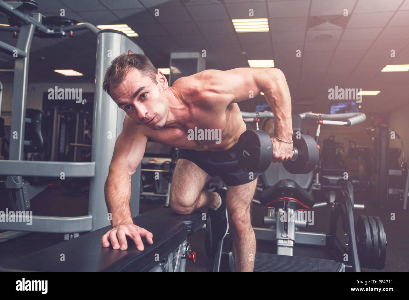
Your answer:
[[[196,151],[223,151],[230,149],[237,143],[240,134],[246,130],[238,104],[232,103],[223,109],[209,105],[200,105],[202,101],[198,98],[202,94],[192,91],[192,89],[199,89],[200,87],[192,87],[194,84],[189,85],[189,79],[187,78],[177,80],[172,87],[182,95],[186,102],[186,113],[184,118],[178,123],[178,126],[164,126],[158,130],[153,130],[140,125],[143,127],[144,135],[160,144],[181,149],[193,149]],[[194,80],[194,78],[191,80]],[[215,140],[189,140],[188,131],[189,129],[194,130],[195,127],[197,129],[214,129],[215,131],[220,129],[220,143],[216,143]]]

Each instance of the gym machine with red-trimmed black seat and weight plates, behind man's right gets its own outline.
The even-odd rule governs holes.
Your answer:
[[[274,118],[271,112],[242,113],[245,118]],[[332,124],[351,126],[363,122],[363,113],[342,113],[327,115],[301,113],[301,119],[312,119],[318,124],[316,142],[321,125]],[[361,267],[382,269],[386,258],[386,234],[382,222],[377,217],[360,216],[356,223],[354,209],[364,209],[353,198],[351,182],[345,180],[341,185],[320,184],[319,176],[314,182],[314,171],[292,174],[283,164],[271,163],[263,172],[263,182],[267,189],[261,193],[260,203],[267,208],[263,223],[270,228],[254,228],[256,239],[276,242],[276,254],[256,253],[254,271],[356,271]],[[313,184],[314,183],[314,184]],[[315,202],[312,189],[336,190],[328,202]],[[256,202],[256,201],[254,201]],[[329,233],[303,231],[313,217],[309,213],[319,207],[329,206]],[[344,236],[337,236],[337,223],[342,221]],[[326,247],[335,252],[337,261],[293,256],[295,244]],[[234,257],[231,252],[229,234],[219,242],[213,271],[222,269],[234,271]]]

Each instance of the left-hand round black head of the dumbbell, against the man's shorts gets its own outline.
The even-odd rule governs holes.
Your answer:
[[[246,172],[263,173],[271,164],[273,145],[262,130],[247,130],[238,138],[237,162]]]

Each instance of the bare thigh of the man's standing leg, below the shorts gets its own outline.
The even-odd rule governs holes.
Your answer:
[[[227,186],[226,207],[232,220],[248,221],[250,205],[256,191],[257,178],[251,182]]]

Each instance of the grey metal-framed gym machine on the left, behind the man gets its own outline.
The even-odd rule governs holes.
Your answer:
[[[0,30],[11,31],[17,36],[16,47],[0,41],[0,51],[15,57],[11,132],[18,138],[10,141],[9,160],[0,160],[0,175],[6,175],[5,186],[9,190],[14,211],[29,211],[30,199],[41,190],[30,185],[23,176],[61,178],[90,178],[88,215],[78,217],[33,216],[32,225],[25,222],[1,222],[2,239],[21,235],[20,232],[64,233],[65,239],[78,236],[79,232],[94,231],[110,224],[104,197],[104,183],[112,157],[116,138],[122,131],[125,112],[117,107],[102,89],[103,77],[113,59],[122,53],[143,53],[142,49],[126,36],[115,30],[99,30],[90,23],[78,23],[62,17],[44,18],[34,12],[38,4],[34,0],[4,2],[0,0],[0,11],[9,18],[10,26],[0,25]],[[94,93],[94,115],[91,162],[43,162],[23,161],[25,139],[27,81],[29,52],[33,36],[40,38],[63,38],[73,36],[77,30],[88,29],[97,35],[96,73]],[[112,50],[112,57],[106,55]],[[79,104],[81,105],[81,104]],[[104,151],[101,151],[103,149]],[[130,208],[133,216],[139,213],[140,166],[131,177],[132,194]]]

